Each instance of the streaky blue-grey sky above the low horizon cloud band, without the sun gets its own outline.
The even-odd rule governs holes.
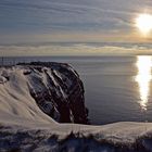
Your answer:
[[[135,27],[144,12],[151,0],[0,0],[0,45],[150,41]]]

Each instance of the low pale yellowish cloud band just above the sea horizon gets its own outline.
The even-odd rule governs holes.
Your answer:
[[[150,43],[51,43],[41,46],[0,46],[0,55],[145,55],[152,54],[151,48],[152,46]]]

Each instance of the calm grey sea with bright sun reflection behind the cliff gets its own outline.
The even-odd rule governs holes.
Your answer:
[[[55,61],[72,64],[85,86],[91,124],[152,122],[151,56],[5,58],[4,63]]]

